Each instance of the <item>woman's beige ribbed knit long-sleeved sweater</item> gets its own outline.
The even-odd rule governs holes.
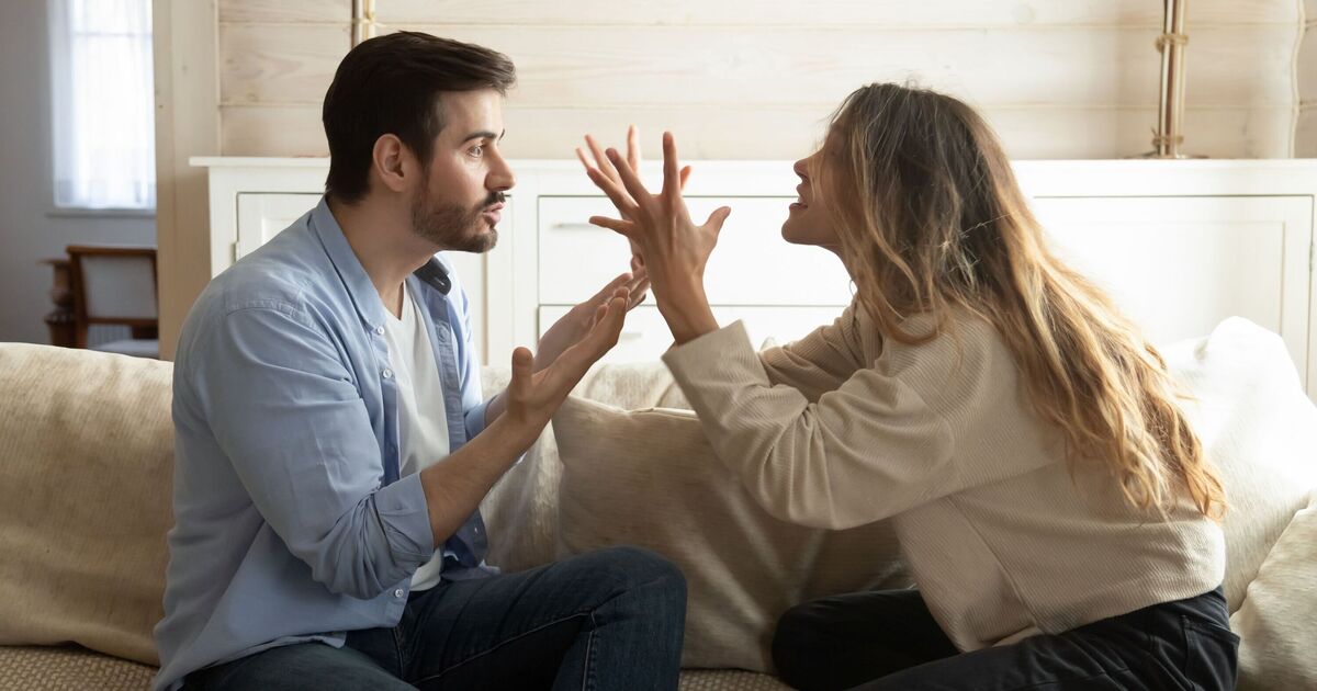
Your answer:
[[[888,344],[852,304],[757,354],[740,322],[664,355],[718,457],[772,515],[894,521],[911,573],[961,650],[1191,598],[1225,575],[1220,528],[1181,501],[1131,509],[1029,407],[996,329]]]

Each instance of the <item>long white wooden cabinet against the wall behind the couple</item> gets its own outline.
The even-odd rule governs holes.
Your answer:
[[[209,168],[212,271],[315,205],[324,159],[200,158]],[[782,241],[797,178],[780,161],[695,161],[691,215],[732,207],[706,274],[722,322],[780,342],[830,322],[852,287],[840,261]],[[1313,204],[1317,161],[1015,162],[1025,192],[1067,262],[1106,288],[1154,342],[1202,336],[1227,316],[1281,334],[1317,397]],[[612,208],[576,162],[512,162],[518,186],[498,247],[449,258],[474,305],[486,362],[533,346],[570,305],[628,270],[624,238],[587,222]],[[658,168],[644,170],[651,184]],[[628,316],[612,361],[649,359],[670,336],[651,303]]]

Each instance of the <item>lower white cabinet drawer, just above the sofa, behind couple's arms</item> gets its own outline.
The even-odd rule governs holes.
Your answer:
[[[540,307],[539,334],[553,325],[569,307]],[[843,307],[714,307],[714,316],[723,326],[741,320],[751,345],[763,346],[766,338],[778,345],[795,341],[814,329],[832,324]],[[653,305],[640,305],[627,315],[618,345],[601,362],[637,362],[658,359],[672,346],[672,332]]]

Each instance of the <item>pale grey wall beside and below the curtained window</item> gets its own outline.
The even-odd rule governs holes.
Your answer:
[[[0,341],[50,342],[50,267],[67,245],[153,245],[153,218],[51,216],[46,3],[5,4],[0,21]]]

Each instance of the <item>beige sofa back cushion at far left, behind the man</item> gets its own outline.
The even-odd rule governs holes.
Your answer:
[[[157,663],[171,366],[0,344],[0,645]]]

